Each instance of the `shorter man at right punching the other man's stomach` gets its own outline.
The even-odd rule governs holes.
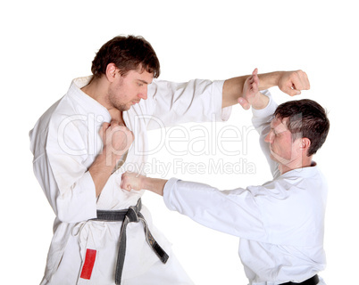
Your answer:
[[[230,191],[203,183],[122,175],[121,188],[163,195],[171,210],[240,238],[238,254],[251,285],[325,284],[324,214],[328,186],[313,162],[330,128],[325,110],[312,100],[277,106],[258,92],[256,70],[239,103],[252,105],[253,124],[274,179]],[[240,182],[240,177],[236,178]]]

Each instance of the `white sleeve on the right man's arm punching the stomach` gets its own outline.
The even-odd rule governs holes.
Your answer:
[[[219,191],[204,183],[171,178],[164,186],[167,208],[213,230],[248,240],[266,240],[263,214],[251,191]]]

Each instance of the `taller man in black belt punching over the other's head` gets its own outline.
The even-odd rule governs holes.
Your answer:
[[[54,209],[45,284],[192,284],[171,244],[141,205],[122,191],[123,169],[144,169],[147,131],[225,120],[244,77],[155,80],[160,64],[142,37],[114,37],[96,53],[93,76],[74,79],[30,132],[33,167]],[[303,71],[261,75],[263,88],[309,88]],[[294,88],[293,88],[294,86]]]

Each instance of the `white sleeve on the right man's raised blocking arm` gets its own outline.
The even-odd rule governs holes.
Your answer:
[[[273,118],[273,114],[277,109],[278,104],[272,100],[271,93],[268,90],[261,91],[261,93],[268,96],[270,101],[264,109],[255,110],[252,108],[252,124],[259,133],[259,144],[271,168],[271,175],[276,178],[280,176],[278,163],[271,159],[270,144],[268,142],[264,142],[264,138],[271,131],[271,119]]]

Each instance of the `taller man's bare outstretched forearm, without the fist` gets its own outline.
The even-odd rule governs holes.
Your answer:
[[[282,74],[283,71],[258,74],[260,81],[259,90],[265,90],[278,85]],[[222,108],[229,107],[238,103],[238,98],[242,97],[243,95],[243,86],[247,77],[249,77],[249,75],[242,77],[233,77],[224,81]]]

